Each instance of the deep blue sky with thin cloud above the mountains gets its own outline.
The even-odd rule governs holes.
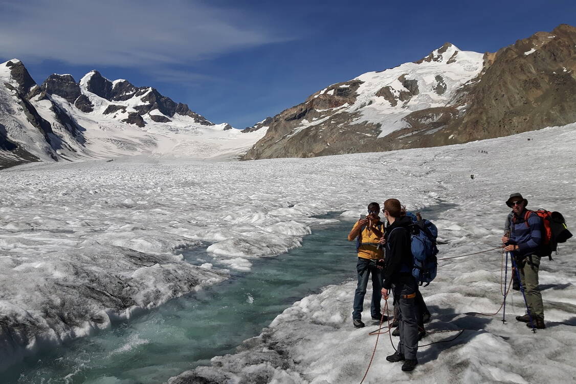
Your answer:
[[[493,52],[562,23],[576,1],[0,0],[0,61],[39,83],[97,69],[244,128],[446,41]]]

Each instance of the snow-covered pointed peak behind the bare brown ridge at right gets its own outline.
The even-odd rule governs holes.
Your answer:
[[[333,84],[271,119],[244,159],[381,150],[377,139],[410,127],[419,111],[430,112],[415,119],[434,128],[457,116],[461,89],[482,69],[482,54],[446,43],[418,62]]]

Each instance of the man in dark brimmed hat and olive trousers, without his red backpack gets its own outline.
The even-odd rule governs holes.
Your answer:
[[[542,220],[535,212],[526,216],[528,200],[520,193],[512,193],[506,205],[512,208],[510,237],[504,235],[502,242],[506,245],[505,252],[511,252],[515,257],[516,266],[520,272],[521,287],[524,287],[526,297],[526,314],[517,316],[516,320],[526,322],[526,326],[538,329],[545,328],[544,305],[542,294],[538,288],[538,269],[540,267],[540,244],[542,241]],[[526,225],[528,220],[528,225]]]

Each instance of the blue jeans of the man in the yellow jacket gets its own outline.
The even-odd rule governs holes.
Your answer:
[[[370,306],[370,314],[372,317],[380,319],[380,300],[382,299],[382,276],[381,269],[376,268],[376,260],[358,257],[356,269],[358,271],[358,287],[354,293],[354,312],[352,318],[354,320],[362,319],[362,309],[364,303],[364,296],[366,295],[366,287],[368,286],[368,278],[372,274],[372,305]]]

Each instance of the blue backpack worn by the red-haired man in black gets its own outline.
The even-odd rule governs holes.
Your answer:
[[[420,286],[422,284],[427,286],[434,280],[438,271],[436,258],[438,254],[436,247],[438,229],[430,220],[422,219],[419,214],[416,216],[412,212],[406,212],[406,216],[412,219],[410,225],[412,257],[414,258],[412,276]]]

